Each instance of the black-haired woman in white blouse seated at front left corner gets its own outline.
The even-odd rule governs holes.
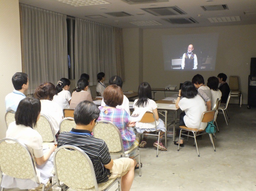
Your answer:
[[[15,121],[10,123],[6,131],[6,137],[17,139],[24,143],[36,162],[36,171],[40,175],[40,182],[46,184],[53,169],[52,154],[55,151],[55,145],[50,144],[49,148],[43,149],[41,135],[33,129],[39,120],[41,103],[38,99],[26,97],[20,101],[15,113]],[[4,175],[2,179],[2,187],[20,189],[32,189],[38,187],[34,181],[34,177],[30,179],[12,178]],[[42,188],[41,188],[42,190]]]

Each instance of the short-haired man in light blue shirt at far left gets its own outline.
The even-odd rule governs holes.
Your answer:
[[[28,89],[29,80],[26,73],[17,72],[12,76],[11,81],[15,90],[5,97],[5,107],[7,112],[10,110],[16,112],[20,100],[26,97],[24,93]]]

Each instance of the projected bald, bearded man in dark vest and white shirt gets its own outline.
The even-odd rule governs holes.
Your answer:
[[[188,47],[188,52],[183,54],[181,61],[181,69],[196,70],[197,69],[197,57],[193,54],[194,47],[192,44]]]

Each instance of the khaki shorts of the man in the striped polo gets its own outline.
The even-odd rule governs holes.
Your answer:
[[[122,177],[128,172],[130,165],[134,166],[134,161],[130,158],[114,159],[113,161],[114,164],[112,169],[110,169],[109,179]]]

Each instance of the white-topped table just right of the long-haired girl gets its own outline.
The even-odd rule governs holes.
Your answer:
[[[167,101],[167,100],[158,100],[156,101],[156,104],[158,106],[157,110],[158,113],[163,115],[162,112],[164,112],[164,124],[165,128],[167,130],[167,112],[173,112],[173,141],[175,141],[175,124],[177,120],[177,109],[175,106],[170,107],[170,104],[175,104],[173,101]],[[129,106],[132,106],[133,102],[129,102]]]

